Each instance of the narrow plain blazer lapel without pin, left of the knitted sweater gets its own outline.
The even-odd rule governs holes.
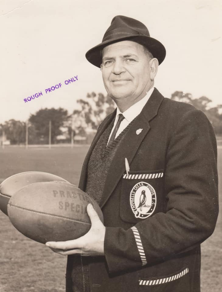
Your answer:
[[[86,177],[87,177],[87,168],[88,168],[88,161],[89,158],[92,154],[92,151],[95,147],[95,144],[97,143],[97,141],[99,140],[99,137],[102,135],[103,131],[106,129],[106,127],[108,127],[108,125],[111,123],[111,121],[113,120],[114,116],[116,115],[116,109],[113,111],[113,113],[111,113],[100,125],[98,131],[95,134],[95,137],[92,141],[92,144],[89,147],[89,150],[86,154],[85,160],[83,162],[82,165],[82,171],[81,171],[81,175],[80,175],[80,179],[79,179],[79,188],[82,189],[83,191],[85,190],[85,184],[86,184]]]

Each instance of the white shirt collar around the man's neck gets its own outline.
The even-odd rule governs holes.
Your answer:
[[[132,106],[130,106],[125,112],[123,112],[124,118],[127,120],[128,123],[132,122],[132,120],[135,119],[136,116],[138,116],[142,109],[144,108],[145,104],[147,103],[148,99],[150,98],[151,94],[154,91],[154,87],[152,87],[144,96],[144,98],[140,99],[137,103],[134,103]],[[116,118],[120,114],[120,109],[117,107],[116,109]]]

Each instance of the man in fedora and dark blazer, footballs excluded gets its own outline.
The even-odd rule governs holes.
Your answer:
[[[200,243],[218,214],[211,124],[153,87],[165,48],[139,21],[114,17],[86,58],[117,109],[99,126],[79,183],[104,225],[89,204],[86,235],[47,243],[68,255],[66,291],[198,292]]]

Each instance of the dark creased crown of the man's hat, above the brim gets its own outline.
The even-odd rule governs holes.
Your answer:
[[[113,17],[109,28],[106,30],[102,42],[116,36],[144,35],[150,36],[147,27],[137,19],[117,15]]]

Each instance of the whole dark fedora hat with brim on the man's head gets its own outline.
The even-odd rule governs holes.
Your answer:
[[[127,16],[118,15],[112,19],[111,25],[106,30],[102,43],[88,50],[85,54],[86,59],[100,68],[102,63],[101,50],[122,40],[131,40],[146,47],[154,58],[158,59],[159,64],[165,58],[165,47],[158,40],[150,37],[147,27],[140,21]]]

